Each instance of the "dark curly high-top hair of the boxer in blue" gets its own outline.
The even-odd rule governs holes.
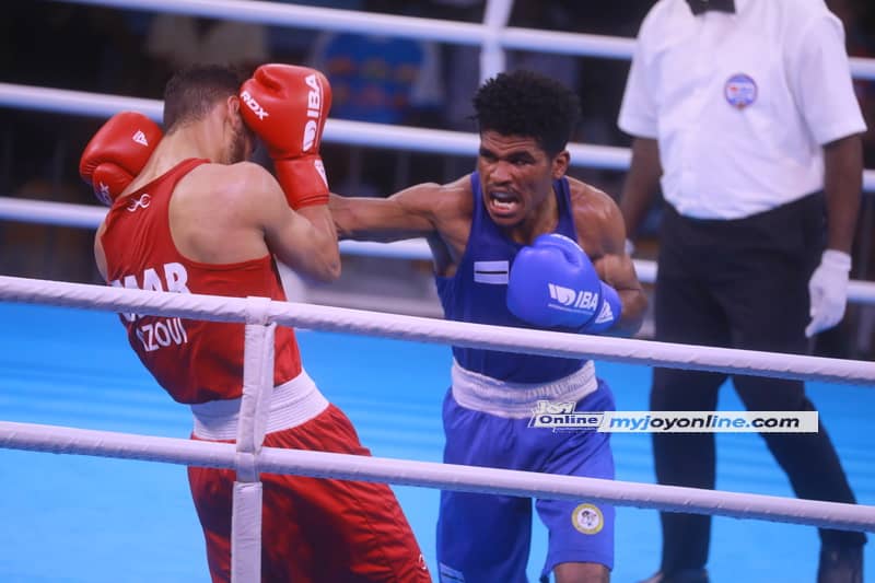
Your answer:
[[[499,73],[474,96],[479,131],[534,138],[549,155],[565,149],[581,115],[580,98],[534,71]]]

